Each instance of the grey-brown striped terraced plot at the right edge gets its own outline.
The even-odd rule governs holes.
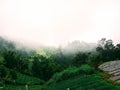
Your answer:
[[[111,75],[110,80],[120,83],[120,60],[106,62],[99,68]]]

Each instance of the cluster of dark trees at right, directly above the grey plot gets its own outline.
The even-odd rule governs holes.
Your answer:
[[[111,39],[106,40],[106,38],[102,38],[98,42],[98,46],[96,47],[96,52],[92,52],[88,57],[89,63],[95,67],[100,65],[103,62],[118,60],[120,54],[119,44],[116,46],[113,44]]]

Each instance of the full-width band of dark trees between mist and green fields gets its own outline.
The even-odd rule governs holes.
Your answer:
[[[0,81],[8,83],[17,79],[20,72],[29,76],[49,80],[55,73],[68,67],[80,67],[83,64],[97,67],[103,62],[120,59],[120,44],[113,44],[111,39],[99,40],[95,50],[64,54],[56,49],[49,57],[37,54],[34,50],[16,49],[15,44],[0,38]]]

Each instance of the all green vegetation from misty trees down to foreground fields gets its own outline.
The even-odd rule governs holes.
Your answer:
[[[18,49],[14,42],[0,38],[0,87],[5,90],[26,90],[25,85],[29,90],[120,90],[119,84],[98,74],[103,72],[97,68],[103,62],[120,59],[120,44],[102,38],[89,51],[67,49],[43,47],[39,51],[22,46]]]

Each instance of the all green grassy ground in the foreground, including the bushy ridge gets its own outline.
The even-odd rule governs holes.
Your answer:
[[[82,65],[80,68],[70,67],[60,73],[56,73],[46,83],[40,85],[42,80],[17,73],[19,86],[9,85],[4,90],[26,90],[25,85],[28,84],[28,90],[120,90],[120,86],[113,84],[97,73],[88,65]],[[35,85],[38,84],[38,85]],[[0,89],[3,90],[3,89]]]

